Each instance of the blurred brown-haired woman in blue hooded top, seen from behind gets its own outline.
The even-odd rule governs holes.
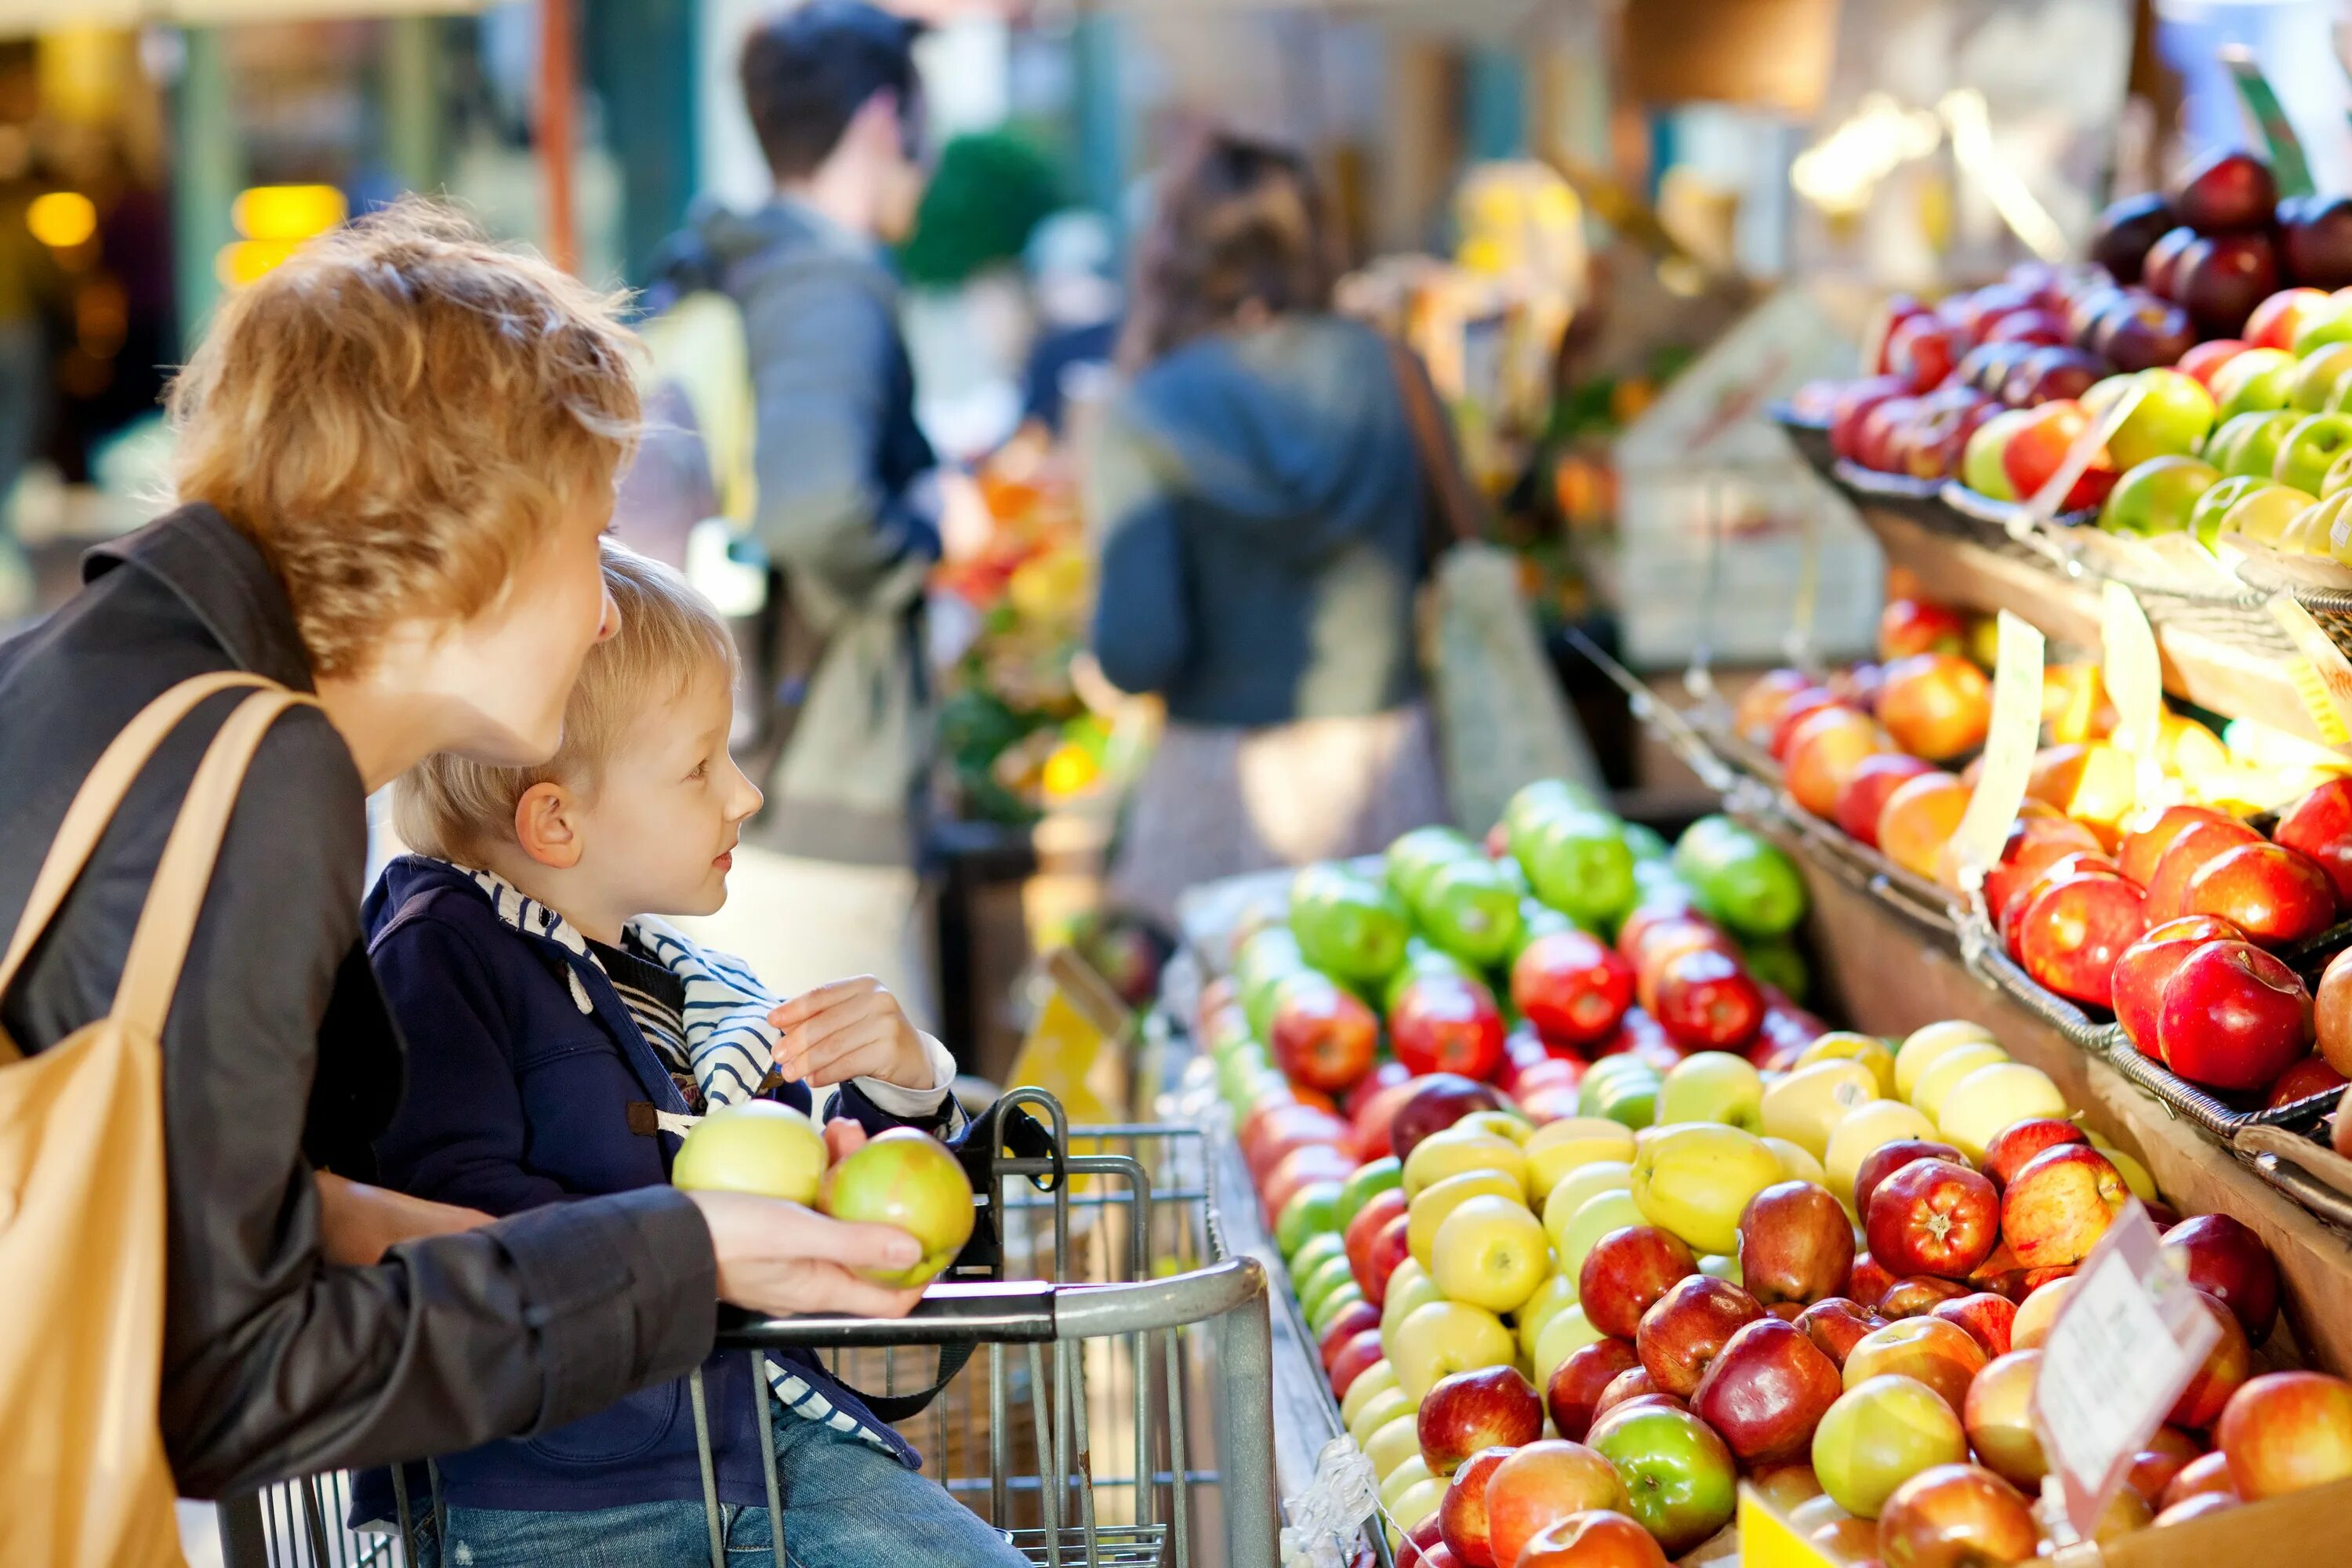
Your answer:
[[[1331,240],[1305,158],[1209,132],[1136,263],[1089,461],[1094,651],[1167,703],[1110,889],[1164,924],[1197,882],[1444,818],[1414,656],[1423,371],[1331,313]]]

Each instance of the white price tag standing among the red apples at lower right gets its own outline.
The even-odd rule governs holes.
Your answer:
[[[2131,1455],[2218,1338],[2180,1255],[2133,1201],[2074,1274],[2034,1378],[2034,1427],[2079,1535],[2098,1526]]]

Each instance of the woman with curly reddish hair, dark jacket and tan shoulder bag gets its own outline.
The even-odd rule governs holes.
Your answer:
[[[793,1204],[365,1185],[405,1056],[367,795],[555,752],[628,355],[430,209],[318,240],[174,386],[179,508],[0,646],[0,1561],[172,1561],[174,1488],[562,1427],[694,1368],[717,1300],[901,1309],[849,1267],[913,1237]]]

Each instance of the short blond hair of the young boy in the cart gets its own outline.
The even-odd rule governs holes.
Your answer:
[[[736,677],[727,623],[687,578],[661,562],[604,545],[604,590],[621,630],[588,649],[564,703],[564,743],[532,769],[499,769],[454,752],[426,757],[393,780],[393,832],[409,849],[477,863],[487,844],[515,839],[515,802],[536,783],[593,792],[621,738],[644,712],[701,679]]]

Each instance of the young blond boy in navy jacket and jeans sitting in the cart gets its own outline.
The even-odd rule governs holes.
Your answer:
[[[840,1147],[960,1131],[955,1065],[870,978],[786,1004],[661,917],[708,914],[760,790],[727,755],[734,644],[673,571],[607,548],[619,632],[595,646],[536,769],[433,757],[402,776],[419,853],[367,900],[369,959],[409,1039],[376,1143],[390,1185],[492,1215],[668,1180],[689,1119],[767,1093]],[[847,1126],[844,1126],[847,1121]],[[760,1399],[774,1396],[786,1549],[800,1563],[1018,1563],[915,1474],[915,1453],[811,1356],[703,1363],[727,1542],[767,1549]],[[708,1554],[682,1382],[532,1439],[440,1460],[449,1559],[475,1568]],[[388,1476],[355,1514],[388,1514]]]

